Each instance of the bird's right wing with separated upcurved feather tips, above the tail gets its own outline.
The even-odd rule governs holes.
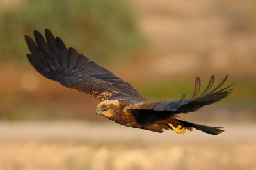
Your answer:
[[[204,107],[204,105],[209,105],[214,102],[218,102],[223,98],[227,97],[230,91],[233,89],[228,89],[230,86],[226,88],[220,89],[224,82],[227,80],[228,75],[221,81],[221,83],[214,88],[212,91],[208,92],[214,83],[214,75],[212,75],[211,80],[205,89],[204,93],[196,97],[200,90],[200,79],[196,77],[196,85],[195,85],[195,93],[191,99],[186,99],[185,93],[182,95],[180,100],[174,101],[146,101],[146,102],[138,102],[133,105],[129,105],[127,109],[129,111],[168,111],[172,112],[173,114],[176,113],[187,113],[197,111],[198,109]],[[228,90],[227,90],[228,89]]]

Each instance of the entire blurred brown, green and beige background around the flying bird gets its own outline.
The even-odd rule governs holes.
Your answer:
[[[256,169],[256,2],[0,0],[0,169]],[[24,35],[51,29],[148,100],[193,95],[212,74],[225,100],[180,114],[225,127],[157,134],[98,116],[99,103],[42,77]]]

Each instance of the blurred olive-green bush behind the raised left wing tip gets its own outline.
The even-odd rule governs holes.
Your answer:
[[[0,62],[27,61],[24,34],[45,28],[102,62],[125,58],[143,42],[123,0],[28,0],[0,16]]]

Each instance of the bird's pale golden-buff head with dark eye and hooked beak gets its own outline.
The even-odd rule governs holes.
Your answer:
[[[105,100],[103,102],[100,102],[97,105],[95,110],[95,116],[97,116],[98,114],[101,114],[106,118],[111,118],[114,114],[114,110],[118,107],[119,107],[118,100]]]

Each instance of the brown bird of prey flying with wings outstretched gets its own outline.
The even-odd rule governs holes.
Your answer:
[[[196,128],[207,134],[218,135],[223,127],[211,127],[186,121],[178,116],[180,113],[194,112],[214,102],[218,102],[232,91],[221,88],[227,76],[211,90],[214,75],[205,91],[198,95],[200,79],[196,77],[195,92],[192,98],[186,99],[183,94],[180,100],[148,101],[134,89],[131,84],[116,77],[113,72],[97,65],[74,48],[67,49],[59,37],[54,37],[49,29],[45,29],[45,38],[39,31],[34,31],[34,40],[25,35],[31,54],[27,57],[33,67],[48,79],[60,82],[67,88],[76,89],[97,98],[100,103],[95,116],[100,114],[109,120],[127,127],[141,128],[153,132],[174,130],[183,134],[186,129]]]

